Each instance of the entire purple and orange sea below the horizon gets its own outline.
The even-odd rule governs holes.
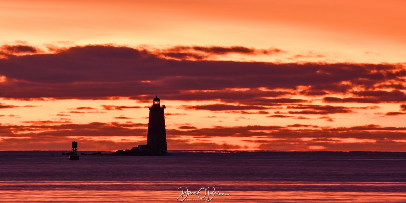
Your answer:
[[[406,202],[403,152],[61,153],[0,152],[0,202]]]

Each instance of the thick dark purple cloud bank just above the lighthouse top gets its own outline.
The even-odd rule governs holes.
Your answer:
[[[258,52],[244,47],[172,49]],[[154,92],[167,99],[220,99],[246,105],[303,101],[286,100],[292,94],[323,96],[327,103],[406,101],[402,85],[406,70],[401,64],[171,60],[147,50],[92,45],[2,59],[0,74],[0,96],[5,98],[146,99]]]

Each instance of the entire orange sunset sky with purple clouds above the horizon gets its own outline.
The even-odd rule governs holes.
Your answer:
[[[0,0],[0,150],[406,150],[406,2]]]

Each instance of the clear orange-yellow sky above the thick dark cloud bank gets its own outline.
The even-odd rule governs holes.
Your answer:
[[[256,60],[404,62],[404,1],[3,1],[0,40],[276,47]],[[229,58],[235,59],[235,58]]]

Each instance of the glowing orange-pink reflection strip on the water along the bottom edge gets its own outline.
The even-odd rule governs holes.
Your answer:
[[[177,190],[180,185],[191,191],[213,186],[230,194],[215,196],[211,202],[402,202],[406,199],[402,192],[373,191],[373,188],[391,187],[404,191],[406,183],[1,181],[0,202],[176,202],[181,194]],[[317,188],[324,189],[314,191]],[[360,192],[360,188],[369,189]],[[187,199],[192,201],[197,197]]]

